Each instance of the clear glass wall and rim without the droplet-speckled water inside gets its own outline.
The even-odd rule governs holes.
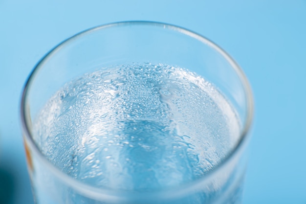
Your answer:
[[[70,163],[74,156],[65,153],[47,155],[49,153],[43,149],[49,147],[48,140],[40,141],[35,135],[40,131],[33,129],[41,110],[52,114],[55,110],[45,109],[45,104],[67,83],[86,73],[101,68],[108,71],[118,66],[129,69],[131,65],[138,64],[151,68],[154,65],[186,68],[211,83],[226,98],[239,120],[239,130],[234,136],[236,139],[232,146],[224,154],[220,153],[219,160],[200,176],[184,180],[185,174],[178,170],[179,177],[183,178],[182,182],[171,185],[154,188],[148,185],[149,187],[142,189],[128,188],[124,186],[125,183],[119,183],[119,187],[116,187],[114,183],[97,185],[95,181],[85,181],[70,175],[57,161],[64,159],[66,163]],[[146,66],[144,68],[148,67]],[[201,100],[195,103],[204,105]],[[189,109],[186,110],[188,115]],[[202,126],[204,124],[196,120],[201,117],[201,113],[198,115],[194,116],[195,123]],[[86,30],[47,53],[29,76],[22,94],[23,139],[34,200],[37,204],[240,203],[252,117],[252,93],[243,71],[225,51],[201,35],[174,25],[154,22],[121,22]],[[74,125],[77,129],[78,124]],[[199,134],[198,137],[202,136]],[[215,142],[217,146],[222,143],[220,139]],[[70,147],[59,143],[55,145],[54,151],[63,152],[66,148]],[[218,148],[214,148],[219,154]],[[220,149],[223,150],[224,147]],[[52,156],[54,158],[50,159]],[[104,162],[102,158],[100,160]],[[156,163],[158,162],[162,161],[157,159]],[[108,168],[119,171],[114,166]],[[146,184],[146,177],[141,175],[143,178],[139,178],[140,183]],[[178,181],[179,178],[174,176],[173,179]]]

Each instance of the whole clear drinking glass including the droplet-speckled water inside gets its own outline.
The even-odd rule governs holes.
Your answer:
[[[23,90],[35,203],[238,204],[252,117],[243,71],[207,38],[156,22],[88,29],[48,52]],[[94,119],[104,123],[84,132]]]

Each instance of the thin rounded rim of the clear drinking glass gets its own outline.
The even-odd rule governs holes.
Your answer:
[[[231,65],[231,67],[235,70],[236,74],[239,76],[240,82],[243,86],[243,91],[246,94],[245,101],[246,101],[246,117],[245,122],[240,133],[240,139],[234,149],[228,153],[228,155],[223,158],[220,163],[215,166],[212,171],[208,172],[204,176],[197,178],[192,181],[188,181],[186,183],[179,184],[178,186],[170,186],[168,188],[160,188],[157,190],[150,190],[150,191],[135,191],[135,190],[121,190],[121,189],[112,189],[107,188],[106,186],[103,187],[95,187],[91,186],[83,181],[76,180],[66,173],[62,172],[58,169],[53,163],[51,163],[48,159],[45,158],[44,154],[40,151],[40,148],[35,143],[34,139],[31,136],[30,131],[30,123],[29,123],[29,115],[27,114],[27,107],[25,107],[25,102],[27,98],[27,92],[29,90],[30,84],[32,80],[35,78],[36,73],[43,68],[44,63],[52,57],[52,55],[56,54],[62,47],[65,45],[69,45],[70,43],[74,42],[78,38],[82,36],[86,36],[94,31],[105,29],[108,27],[119,27],[119,26],[126,26],[126,25],[146,25],[146,26],[155,26],[155,27],[162,27],[163,29],[173,30],[182,34],[185,34],[189,37],[192,37],[199,42],[206,44],[216,50],[219,54],[222,55],[226,59],[226,61]],[[108,23],[99,25],[93,28],[89,28],[82,32],[79,32],[72,37],[64,40],[60,44],[56,45],[53,49],[51,49],[48,53],[44,55],[44,57],[36,64],[33,68],[32,72],[29,74],[28,79],[24,85],[22,91],[22,99],[21,99],[21,122],[22,122],[22,129],[23,129],[23,137],[24,143],[29,146],[30,151],[34,151],[33,153],[40,159],[41,162],[54,174],[58,177],[61,181],[65,182],[68,186],[72,187],[73,189],[77,190],[81,194],[86,194],[90,198],[98,199],[98,200],[115,200],[115,201],[127,201],[129,198],[139,198],[148,200],[150,198],[173,198],[177,195],[181,196],[183,194],[188,194],[188,192],[194,191],[199,186],[202,186],[205,183],[208,183],[211,178],[214,177],[215,174],[221,171],[226,164],[228,164],[232,159],[235,158],[240,151],[242,151],[247,144],[247,140],[249,138],[249,130],[252,126],[253,121],[253,114],[254,114],[254,102],[253,102],[253,95],[251,91],[251,87],[249,82],[240,68],[240,66],[234,61],[234,59],[227,54],[221,47],[213,43],[211,40],[203,37],[200,34],[197,34],[191,30],[185,29],[183,27],[179,27],[173,24],[168,23],[159,23],[159,22],[151,22],[151,21],[124,21],[124,22],[117,22],[117,23]]]

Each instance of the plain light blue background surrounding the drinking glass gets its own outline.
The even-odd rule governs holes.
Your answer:
[[[52,47],[117,21],[172,23],[240,64],[256,114],[244,204],[306,204],[306,0],[0,0],[0,204],[33,204],[19,116],[23,84]]]

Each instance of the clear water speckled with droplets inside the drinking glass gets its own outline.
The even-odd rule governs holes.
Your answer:
[[[151,190],[205,175],[234,148],[235,111],[184,68],[101,68],[66,84],[33,124],[43,154],[94,186]]]

